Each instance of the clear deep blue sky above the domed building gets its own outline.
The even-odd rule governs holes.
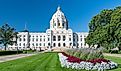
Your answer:
[[[44,32],[58,5],[74,32],[88,32],[88,23],[103,9],[121,5],[121,0],[0,0],[0,26],[8,22],[17,31]]]

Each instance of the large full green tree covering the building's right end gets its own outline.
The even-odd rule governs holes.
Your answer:
[[[105,9],[94,16],[89,23],[86,43],[111,49],[121,47],[121,7]]]

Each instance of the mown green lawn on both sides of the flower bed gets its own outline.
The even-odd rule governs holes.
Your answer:
[[[121,71],[121,58],[106,57],[117,62],[119,68],[109,71]],[[0,63],[0,71],[86,71],[61,68],[57,53],[41,53],[13,61]]]

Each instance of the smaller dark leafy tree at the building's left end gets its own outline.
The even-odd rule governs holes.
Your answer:
[[[16,43],[16,40],[13,40],[16,36],[17,32],[15,32],[15,29],[10,27],[8,24],[4,24],[0,27],[0,44],[4,45],[5,50],[7,45],[13,45]]]

